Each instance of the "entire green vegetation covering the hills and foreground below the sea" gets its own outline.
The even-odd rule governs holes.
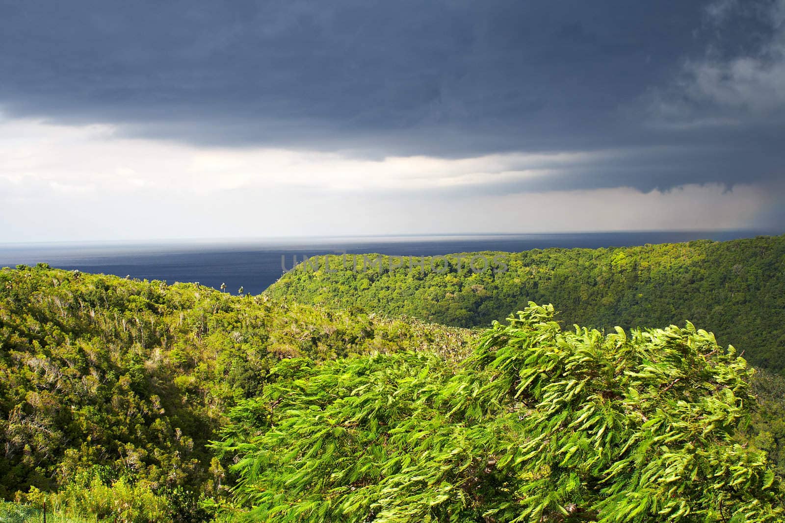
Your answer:
[[[785,237],[481,254],[2,269],[0,521],[785,520]]]

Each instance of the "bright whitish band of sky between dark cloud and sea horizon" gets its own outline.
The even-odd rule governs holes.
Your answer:
[[[761,209],[778,209],[781,193],[749,183],[499,190],[617,151],[369,160],[115,133],[0,122],[0,240],[738,229],[764,226]]]

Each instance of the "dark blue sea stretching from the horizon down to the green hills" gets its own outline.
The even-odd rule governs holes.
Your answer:
[[[53,267],[124,277],[199,281],[218,288],[226,283],[257,294],[290,269],[292,257],[378,252],[396,256],[436,256],[454,252],[520,252],[549,247],[623,247],[697,239],[750,238],[765,231],[661,231],[576,234],[495,234],[353,238],[291,238],[234,242],[112,242],[0,244],[0,267],[45,262]],[[771,233],[768,233],[771,234]],[[283,258],[283,260],[282,260]],[[283,265],[282,265],[283,261]]]

